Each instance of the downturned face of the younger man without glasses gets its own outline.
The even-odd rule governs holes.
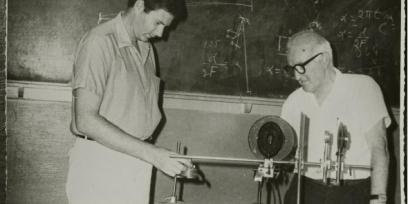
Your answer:
[[[152,10],[148,13],[142,12],[141,27],[135,26],[138,40],[147,42],[150,38],[162,37],[164,28],[173,21],[173,15],[164,9]]]

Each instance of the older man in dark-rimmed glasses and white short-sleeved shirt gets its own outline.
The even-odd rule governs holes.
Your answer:
[[[389,154],[386,127],[391,123],[377,83],[369,76],[343,74],[333,65],[329,42],[313,31],[302,31],[288,42],[287,60],[301,88],[289,95],[281,116],[299,135],[300,116],[310,119],[306,141],[309,162],[323,159],[326,134],[333,135],[331,160],[336,161],[337,131],[340,124],[349,132],[344,163],[371,166],[371,170],[344,171],[342,186],[323,184],[320,167],[306,166],[302,177],[302,204],[350,204],[386,202]],[[297,176],[285,196],[285,203],[297,201]],[[335,171],[329,173],[335,180]]]

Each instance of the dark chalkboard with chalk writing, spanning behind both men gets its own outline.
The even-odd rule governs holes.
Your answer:
[[[15,19],[21,18],[24,12],[33,12],[33,5],[22,7],[27,4],[22,0],[10,2],[19,5],[10,7],[9,35],[15,32],[23,37],[14,38],[9,48],[9,52],[16,53],[9,58],[10,79],[69,81],[73,52],[67,51],[73,51],[76,43],[73,41],[92,27],[99,11],[114,11],[118,7],[115,3],[109,9],[99,6],[96,10],[78,1],[55,2],[64,2],[70,8],[75,5],[87,11],[87,16],[81,14],[82,19],[64,21],[64,17],[73,18],[67,13],[49,24],[49,18],[57,13],[51,11],[48,20],[43,19],[48,24],[37,23],[34,32],[30,32],[29,24],[19,27],[21,20]],[[39,2],[50,9],[57,5],[45,0]],[[332,43],[335,63],[341,71],[372,76],[382,87],[386,101],[399,105],[400,2],[397,0],[186,0],[186,6],[186,20],[171,30],[165,40],[154,44],[166,90],[285,98],[298,87],[282,70],[286,65],[287,38],[297,31],[314,29]],[[92,11],[95,17],[91,17]],[[35,12],[47,17],[44,9]],[[57,32],[62,37],[44,31],[50,25],[58,26]],[[57,57],[62,61],[43,59],[39,63],[31,59],[42,53],[26,44],[38,40],[65,53]],[[32,63],[25,62],[27,58]]]

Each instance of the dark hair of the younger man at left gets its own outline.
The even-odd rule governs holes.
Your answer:
[[[137,0],[128,0],[128,8],[135,5]],[[144,11],[146,13],[156,10],[163,9],[169,12],[174,18],[183,18],[185,15],[185,5],[184,0],[143,0],[144,1]]]

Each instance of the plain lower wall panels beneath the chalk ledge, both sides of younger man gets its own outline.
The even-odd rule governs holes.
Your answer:
[[[159,137],[159,145],[174,149],[176,141],[181,139],[191,153],[252,156],[247,148],[246,137],[250,125],[260,115],[175,109],[165,111],[167,122]],[[64,192],[68,168],[67,152],[73,142],[68,130],[69,121],[69,103],[9,100],[7,203],[67,202]],[[216,166],[202,168],[212,187],[186,185],[186,199],[206,203],[205,197],[214,196],[211,199],[214,202],[229,200],[244,203],[256,198],[256,184],[252,181],[251,169]],[[168,187],[171,185],[160,174],[156,180],[157,201],[169,193]],[[236,187],[230,191],[231,186]],[[197,190],[197,193],[190,194],[193,190]]]

